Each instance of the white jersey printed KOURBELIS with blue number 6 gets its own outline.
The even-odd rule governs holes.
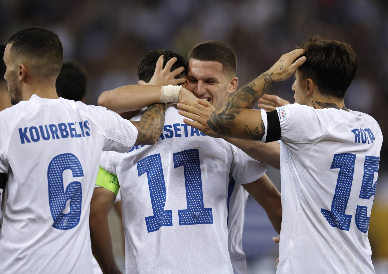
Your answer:
[[[137,129],[102,107],[33,95],[0,112],[9,173],[0,273],[93,273],[89,209],[102,150],[128,151]]]

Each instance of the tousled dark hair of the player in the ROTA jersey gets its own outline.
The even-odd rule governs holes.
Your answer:
[[[326,97],[345,97],[357,69],[357,57],[346,43],[311,36],[300,49],[307,61],[298,68],[302,79],[315,82],[319,93]]]

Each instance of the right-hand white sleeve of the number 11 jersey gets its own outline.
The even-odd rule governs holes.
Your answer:
[[[264,175],[267,169],[262,162],[252,159],[235,146],[231,145],[231,147],[234,154],[234,160],[230,172],[236,183],[251,183]]]

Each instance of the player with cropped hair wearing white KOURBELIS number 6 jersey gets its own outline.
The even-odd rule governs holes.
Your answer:
[[[0,173],[9,174],[0,273],[93,273],[88,215],[101,151],[156,142],[165,106],[130,122],[58,98],[63,49],[49,29],[18,31],[3,59],[14,106],[0,112]]]

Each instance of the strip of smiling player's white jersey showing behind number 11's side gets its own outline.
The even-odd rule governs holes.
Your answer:
[[[246,274],[246,256],[242,250],[242,230],[244,228],[245,205],[249,193],[233,178],[229,183],[228,198],[228,240],[229,255],[234,274]]]

